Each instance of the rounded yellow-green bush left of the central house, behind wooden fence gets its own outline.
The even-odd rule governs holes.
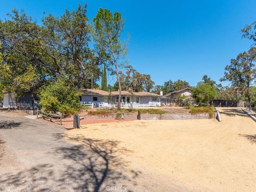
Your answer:
[[[71,115],[76,113],[81,106],[79,103],[79,92],[76,87],[69,85],[65,79],[58,79],[39,92],[39,105],[46,112],[59,111],[62,114]]]

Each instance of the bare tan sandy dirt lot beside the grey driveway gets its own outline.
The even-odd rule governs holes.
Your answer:
[[[137,170],[147,191],[255,191],[256,123],[239,108],[219,108],[215,119],[89,124],[79,138],[118,142],[119,157]],[[116,169],[111,165],[110,169]]]

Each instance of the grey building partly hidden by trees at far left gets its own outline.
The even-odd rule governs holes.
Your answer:
[[[29,91],[23,92],[17,99],[17,105],[15,104],[14,95],[10,92],[3,92],[3,108],[17,108],[21,110],[31,110],[39,108],[38,100],[35,95]]]

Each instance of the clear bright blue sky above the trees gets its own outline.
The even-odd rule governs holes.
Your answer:
[[[61,15],[66,8],[87,3],[91,20],[99,7],[119,11],[130,34],[126,59],[156,84],[183,79],[191,85],[209,75],[215,81],[224,68],[252,42],[240,30],[256,21],[256,1],[18,1],[0,0],[0,18],[23,9],[37,21],[46,14]],[[110,78],[111,84],[114,79]],[[228,83],[222,83],[227,85]]]

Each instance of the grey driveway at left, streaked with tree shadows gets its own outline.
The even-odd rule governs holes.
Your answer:
[[[146,191],[138,172],[122,169],[128,162],[116,151],[127,149],[118,142],[86,137],[76,145],[67,132],[0,113],[0,191]]]

